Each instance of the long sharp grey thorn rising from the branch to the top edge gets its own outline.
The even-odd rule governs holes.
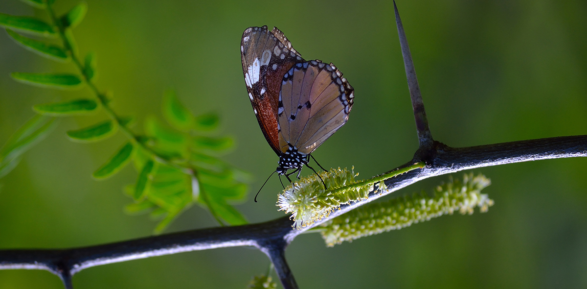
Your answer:
[[[397,11],[396,1],[393,1],[393,8],[396,12],[397,34],[399,35],[400,45],[402,46],[407,85],[410,88],[411,106],[414,109],[414,118],[416,119],[418,141],[420,143],[420,149],[426,150],[433,146],[434,139],[428,126],[426,110],[424,109],[424,102],[420,93],[420,85],[418,85],[418,78],[416,77],[416,68],[414,68],[414,61],[411,59],[410,46],[407,44],[406,32],[404,32],[402,19]]]

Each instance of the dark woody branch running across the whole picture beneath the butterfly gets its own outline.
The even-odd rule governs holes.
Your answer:
[[[524,140],[463,148],[452,148],[442,143],[434,142],[427,155],[430,156],[429,166],[387,179],[385,183],[388,187],[382,194],[372,194],[368,200],[342,206],[341,210],[335,211],[319,223],[429,177],[476,167],[497,166],[499,164],[527,162],[530,160],[587,156],[587,135],[552,137],[549,139]],[[421,159],[414,158],[411,162],[400,167],[409,166],[420,161]],[[311,227],[318,226],[319,223]],[[283,217],[266,223],[184,231],[84,248],[0,250],[0,269],[48,270],[61,277],[66,285],[70,285],[70,276],[73,274],[85,268],[103,264],[186,251],[254,246],[271,258],[285,288],[297,288],[291,271],[285,263],[284,249],[298,234],[311,227],[294,230],[291,225],[292,221],[288,217]]]

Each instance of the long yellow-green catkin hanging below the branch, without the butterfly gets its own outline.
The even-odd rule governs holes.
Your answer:
[[[366,204],[321,224],[322,238],[326,246],[332,247],[343,241],[399,230],[455,211],[473,214],[473,209],[479,207],[484,213],[494,204],[487,194],[481,194],[481,190],[490,184],[483,174],[473,176],[471,173],[464,175],[463,182],[451,179],[437,186],[433,197],[423,192],[412,197]]]

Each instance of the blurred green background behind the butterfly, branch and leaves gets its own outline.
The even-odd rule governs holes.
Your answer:
[[[57,12],[77,2],[58,0]],[[355,88],[347,125],[314,156],[326,167],[355,166],[369,177],[411,159],[417,149],[391,1],[87,0],[75,29],[80,54],[96,51],[97,85],[114,109],[142,121],[161,115],[167,88],[194,113],[218,112],[238,140],[226,160],[254,173],[251,191],[278,157],[247,98],[239,42],[249,26],[278,26],[306,59],[333,62]],[[587,2],[399,1],[435,139],[450,146],[587,133]],[[16,0],[0,12],[38,15]],[[9,72],[74,72],[18,46],[0,31],[0,143],[37,103],[92,95],[16,83]],[[0,248],[89,246],[149,236],[156,222],[128,216],[122,187],[131,166],[104,182],[90,174],[123,142],[70,142],[65,131],[103,115],[63,119],[21,164],[0,179]],[[475,170],[492,185],[488,213],[449,216],[326,248],[318,234],[286,252],[301,288],[587,287],[587,163],[544,160]],[[308,173],[308,172],[306,172]],[[456,176],[462,176],[461,173]],[[431,190],[447,176],[396,194]],[[276,211],[277,178],[259,203],[237,206],[248,220]],[[192,207],[167,232],[216,226]],[[265,272],[251,248],[225,248],[89,268],[75,288],[244,288]],[[62,288],[46,271],[0,271],[0,288]]]

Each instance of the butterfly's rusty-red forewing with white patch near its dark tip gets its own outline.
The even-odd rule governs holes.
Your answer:
[[[263,26],[249,27],[242,33],[241,61],[259,126],[271,148],[281,156],[277,122],[281,80],[295,63],[304,60],[284,33],[277,28],[268,31]]]

